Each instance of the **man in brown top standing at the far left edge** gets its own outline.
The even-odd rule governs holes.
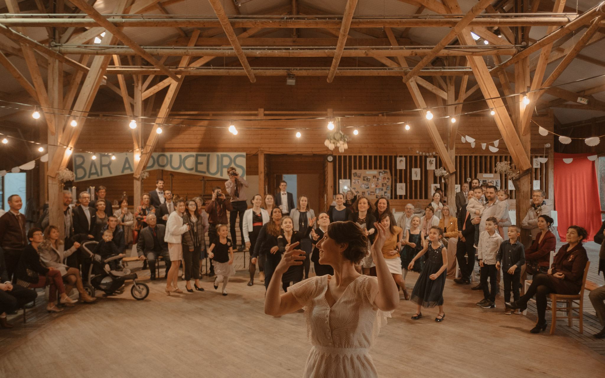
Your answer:
[[[8,206],[10,209],[0,217],[0,247],[4,249],[8,279],[11,280],[19,264],[21,252],[27,247],[27,234],[25,215],[19,212],[23,206],[21,197],[16,194],[9,196]]]

